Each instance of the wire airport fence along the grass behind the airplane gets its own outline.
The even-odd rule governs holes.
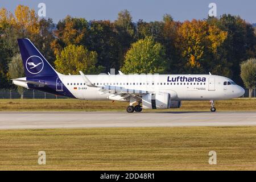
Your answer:
[[[20,93],[17,90],[0,90],[0,99],[19,99]],[[245,94],[241,98],[249,97],[249,89],[245,89]],[[256,90],[253,90],[252,97],[256,97]],[[24,90],[23,98],[26,99],[63,99],[67,97],[57,96],[46,92],[40,92],[38,90]]]

